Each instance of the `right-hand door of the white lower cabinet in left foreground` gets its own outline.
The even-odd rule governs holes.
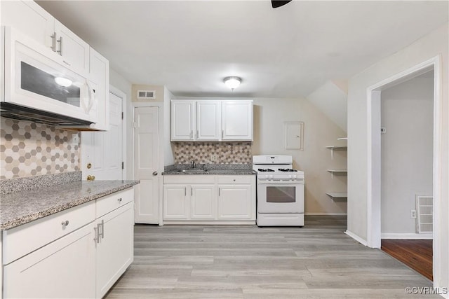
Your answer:
[[[95,223],[100,228],[96,240],[96,298],[102,298],[133,263],[133,203],[115,209]]]

